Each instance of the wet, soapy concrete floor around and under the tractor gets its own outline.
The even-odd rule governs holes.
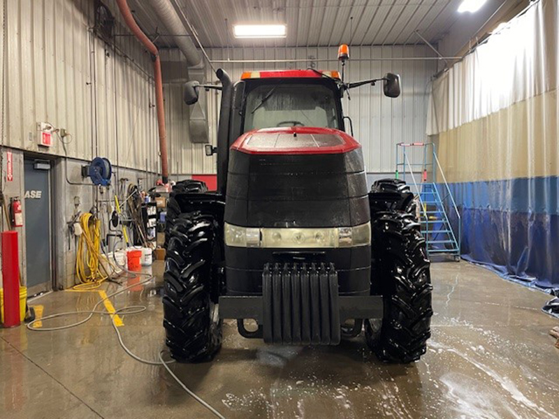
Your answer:
[[[559,351],[547,335],[559,322],[540,311],[549,295],[465,262],[435,263],[432,276],[433,338],[413,365],[378,362],[363,337],[337,347],[266,346],[229,322],[215,362],[172,368],[226,418],[559,417]],[[119,329],[144,358],[164,348],[160,295],[158,280],[114,301],[147,306]],[[90,309],[99,298],[65,291],[31,305],[46,316]],[[129,358],[107,316],[61,332],[0,330],[1,418],[179,416],[212,418],[162,367]]]

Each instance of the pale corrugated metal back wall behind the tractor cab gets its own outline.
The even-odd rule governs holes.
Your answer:
[[[303,48],[231,48],[210,49],[211,59],[309,59],[309,63],[256,63],[256,64],[215,64],[228,71],[233,80],[238,80],[243,71],[269,70],[276,68],[305,68],[312,59],[319,61],[315,68],[341,69],[337,61],[335,47]],[[382,86],[370,85],[350,91],[351,100],[344,98],[344,113],[354,122],[354,134],[363,145],[363,156],[368,172],[393,172],[395,169],[395,149],[398,142],[421,142],[426,140],[426,120],[428,108],[428,84],[436,71],[437,61],[403,61],[402,57],[433,57],[428,47],[418,46],[372,46],[351,47],[351,59],[347,65],[346,80],[357,81],[381,77],[391,71],[402,77],[402,95],[386,98]],[[375,60],[380,59],[383,60]],[[353,61],[352,61],[353,60]],[[209,66],[208,66],[209,67]],[[217,78],[208,68],[208,80]],[[210,126],[217,126],[215,107],[217,101],[209,101]],[[215,131],[210,131],[215,142]],[[418,162],[421,156],[417,156]],[[415,156],[412,156],[412,161]],[[202,166],[195,168],[203,170]],[[207,166],[204,166],[207,168]]]

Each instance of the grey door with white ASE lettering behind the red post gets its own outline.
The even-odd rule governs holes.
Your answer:
[[[25,243],[27,255],[28,293],[52,289],[50,266],[50,170],[41,161],[24,161]]]

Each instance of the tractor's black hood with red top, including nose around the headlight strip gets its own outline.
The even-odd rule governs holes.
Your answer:
[[[310,235],[309,229],[367,228],[370,210],[362,149],[350,135],[329,128],[249,131],[231,146],[225,202],[224,222],[235,237],[242,237],[242,232],[245,237],[246,232],[260,237],[270,231],[291,237],[295,231],[291,229]],[[226,243],[228,293],[259,290],[265,263],[301,252],[334,263],[340,293],[368,293],[370,289],[368,245],[343,249],[270,246]]]

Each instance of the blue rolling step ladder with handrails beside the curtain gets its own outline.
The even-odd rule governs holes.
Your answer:
[[[410,147],[414,147],[412,162],[408,151]],[[437,172],[443,181],[438,184]],[[460,260],[460,213],[435,153],[435,145],[432,142],[398,144],[395,174],[396,178],[407,182],[416,196],[421,234],[425,237],[429,256],[446,255]],[[455,228],[451,225],[448,211],[456,217]]]

